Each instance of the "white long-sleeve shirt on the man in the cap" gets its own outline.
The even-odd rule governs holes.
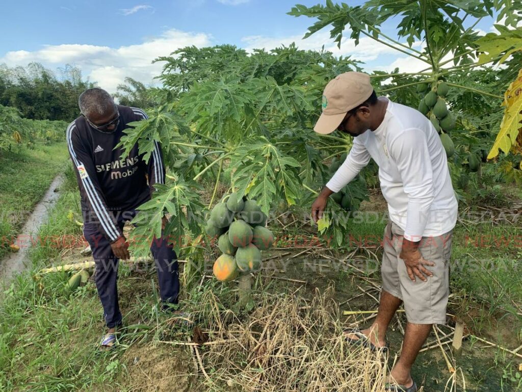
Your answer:
[[[345,162],[326,186],[338,192],[370,158],[379,166],[390,220],[406,239],[419,241],[455,227],[458,205],[446,153],[433,124],[419,111],[388,100],[381,125],[353,138]]]

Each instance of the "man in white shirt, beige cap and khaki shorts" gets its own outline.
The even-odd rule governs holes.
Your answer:
[[[411,367],[433,324],[445,324],[449,257],[457,200],[437,131],[420,112],[377,98],[370,76],[347,72],[324,90],[323,113],[314,130],[349,133],[353,146],[312,204],[315,222],[328,197],[347,185],[373,158],[388,203],[381,268],[383,292],[375,322],[345,331],[350,343],[385,350],[388,324],[404,302],[408,324],[388,390],[414,392]]]

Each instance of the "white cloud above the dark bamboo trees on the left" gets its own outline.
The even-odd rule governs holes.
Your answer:
[[[205,47],[211,44],[212,37],[207,34],[171,29],[164,31],[160,37],[119,48],[62,44],[45,45],[33,52],[7,52],[0,58],[0,63],[26,66],[35,61],[49,68],[74,64],[81,68],[84,76],[88,76],[91,82],[98,82],[98,86],[114,93],[116,86],[123,83],[127,76],[145,84],[153,83],[153,78],[161,73],[163,66],[162,63],[151,64],[157,57],[191,45]]]

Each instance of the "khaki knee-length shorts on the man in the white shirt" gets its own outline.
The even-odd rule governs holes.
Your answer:
[[[404,231],[393,222],[384,229],[384,255],[381,266],[383,290],[404,301],[406,318],[413,324],[446,324],[449,296],[449,258],[452,253],[453,230],[437,237],[422,237],[419,251],[435,266],[424,266],[433,273],[424,282],[416,276],[413,282],[406,264],[399,258]]]

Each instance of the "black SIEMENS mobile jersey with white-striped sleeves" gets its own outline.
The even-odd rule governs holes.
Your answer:
[[[123,130],[129,128],[129,122],[148,118],[141,109],[116,106],[120,123],[113,133],[92,128],[84,117],[78,117],[67,128],[67,146],[80,188],[84,223],[96,222],[110,242],[122,234],[117,215],[150,200],[153,185],[165,183],[163,155],[157,142],[148,165],[143,154],[138,154],[137,144],[125,159],[121,147],[113,149]]]

